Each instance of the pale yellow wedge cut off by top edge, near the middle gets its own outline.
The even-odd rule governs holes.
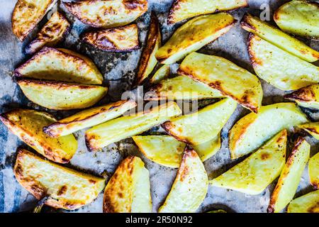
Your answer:
[[[247,0],[175,0],[169,10],[168,24],[183,21],[186,18],[216,11],[228,11],[248,6]]]

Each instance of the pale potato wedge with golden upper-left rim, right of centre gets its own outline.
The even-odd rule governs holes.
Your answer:
[[[278,103],[262,106],[258,114],[247,114],[230,129],[230,156],[236,159],[247,155],[284,128],[289,129],[306,122],[306,115],[296,104]]]

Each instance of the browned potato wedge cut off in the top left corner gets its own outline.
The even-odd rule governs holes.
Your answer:
[[[57,0],[18,0],[11,18],[14,35],[23,41],[56,2]]]

